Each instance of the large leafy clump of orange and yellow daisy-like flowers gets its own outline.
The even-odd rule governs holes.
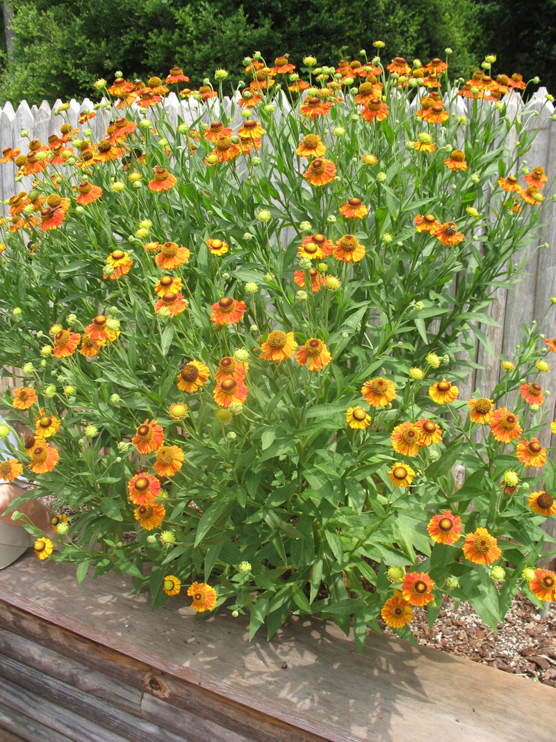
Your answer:
[[[37,556],[129,574],[155,607],[225,605],[251,636],[331,617],[360,646],[379,617],[432,623],[443,594],[494,628],[519,588],[554,600],[535,569],[556,512],[539,329],[471,399],[473,361],[454,362],[488,349],[476,323],[550,187],[517,171],[520,76],[244,64],[231,108],[225,70],[198,91],[179,68],[118,76],[97,85],[99,141],[62,105],[59,135],[4,148],[22,190],[3,407],[27,430],[0,476],[56,499],[53,540],[27,524]]]

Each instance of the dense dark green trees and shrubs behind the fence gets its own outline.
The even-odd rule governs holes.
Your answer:
[[[454,49],[451,73],[471,73],[486,53],[499,53],[497,71],[540,76],[554,89],[556,0],[539,6],[474,0],[20,0],[13,3],[13,58],[0,77],[0,97],[40,103],[84,97],[99,76],[126,78],[182,66],[198,86],[216,67],[241,79],[242,56],[290,53],[353,59],[374,39],[387,56],[428,61]],[[116,11],[116,12],[115,12]],[[5,49],[5,46],[3,47]]]

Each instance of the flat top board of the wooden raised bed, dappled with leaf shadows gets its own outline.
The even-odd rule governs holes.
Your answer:
[[[333,742],[394,742],[408,739],[411,729],[411,742],[429,742],[434,729],[437,739],[449,742],[503,742],[503,719],[513,742],[530,738],[532,709],[538,718],[554,708],[555,692],[547,686],[403,640],[372,633],[359,655],[335,626],[292,620],[270,643],[257,637],[248,643],[241,619],[218,614],[196,620],[191,608],[181,607],[181,596],[154,617],[145,596],[127,592],[116,575],[79,588],[73,569],[29,558],[0,573],[5,603],[157,668],[151,680],[160,698],[202,688],[216,700],[280,721],[292,734],[299,729]],[[553,742],[548,726],[535,727],[536,742]],[[245,734],[270,739],[251,729]]]

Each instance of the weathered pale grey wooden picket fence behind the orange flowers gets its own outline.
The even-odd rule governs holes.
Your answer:
[[[538,115],[529,121],[529,126],[537,128],[538,133],[532,149],[526,154],[525,159],[529,168],[542,165],[550,183],[556,163],[556,121],[552,120],[555,108],[552,102],[546,102],[545,96],[546,88],[540,88],[523,106],[520,99],[512,94],[508,105],[509,108],[514,108],[514,110],[516,107],[520,108],[523,118],[529,112],[537,111]],[[50,105],[43,101],[37,108],[36,105],[30,107],[27,102],[23,101],[17,111],[14,111],[11,103],[6,103],[0,111],[0,148],[6,146],[19,147],[26,154],[29,140],[21,137],[21,131],[25,129],[29,132],[30,138],[40,139],[42,142],[46,142],[50,134],[59,134],[64,119],[62,116],[55,116],[54,110],[61,104],[62,101],[58,100],[53,108],[50,108]],[[165,98],[164,105],[174,127],[178,123],[178,116],[185,122],[191,123],[202,115],[203,120],[210,122],[219,118],[221,107],[228,116],[231,111],[231,100],[228,98],[225,98],[222,103],[218,99],[213,99],[207,105],[193,99],[183,101],[176,96],[176,93],[169,93]],[[289,108],[285,96],[282,96],[282,105],[285,109]],[[94,119],[79,125],[79,114],[85,108],[93,111],[93,102],[88,99],[83,102],[72,100],[65,116],[81,132],[86,128],[91,128],[93,138],[102,138],[108,123],[107,112],[105,109],[99,108]],[[466,110],[466,102],[459,99],[457,108],[458,114],[463,113]],[[460,108],[462,110],[459,110]],[[279,109],[277,115],[279,115]],[[236,108],[232,125],[238,125],[240,120],[239,111]],[[509,135],[509,144],[513,145],[516,138],[515,132],[512,131]],[[523,163],[518,163],[518,165],[520,164]],[[20,190],[19,184],[15,182],[15,174],[16,167],[13,163],[0,167],[1,200],[6,200]],[[4,213],[7,214],[7,211]],[[550,306],[550,298],[556,296],[556,204],[551,199],[546,201],[543,222],[547,222],[547,225],[543,228],[540,240],[521,251],[517,256],[522,257],[525,254],[530,256],[525,278],[509,291],[507,289],[497,289],[495,292],[495,301],[490,306],[489,314],[500,326],[482,326],[482,329],[492,342],[496,355],[494,358],[489,357],[482,346],[475,345],[474,360],[481,364],[484,369],[470,372],[466,382],[460,384],[461,398],[463,399],[469,398],[475,390],[479,390],[482,395],[489,395],[492,387],[500,378],[500,364],[497,354],[503,353],[506,357],[512,357],[515,347],[520,343],[523,323],[529,325],[534,319],[540,320],[547,307]],[[549,243],[549,249],[541,248],[537,250],[537,247],[543,243]],[[556,335],[555,315],[556,307],[552,308],[549,313],[549,318],[555,319],[546,331],[547,337]],[[543,375],[542,383],[545,389],[554,391],[546,399],[544,405],[552,421],[556,417],[556,355],[549,353],[547,360],[549,362],[553,361],[551,363],[552,370]],[[546,426],[541,439],[543,444],[549,444],[550,430],[548,426]]]

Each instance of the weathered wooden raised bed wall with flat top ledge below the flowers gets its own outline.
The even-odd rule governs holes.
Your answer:
[[[0,739],[554,742],[554,689],[372,633],[150,611],[122,578],[21,557],[0,571]],[[2,734],[1,730],[4,729]]]

